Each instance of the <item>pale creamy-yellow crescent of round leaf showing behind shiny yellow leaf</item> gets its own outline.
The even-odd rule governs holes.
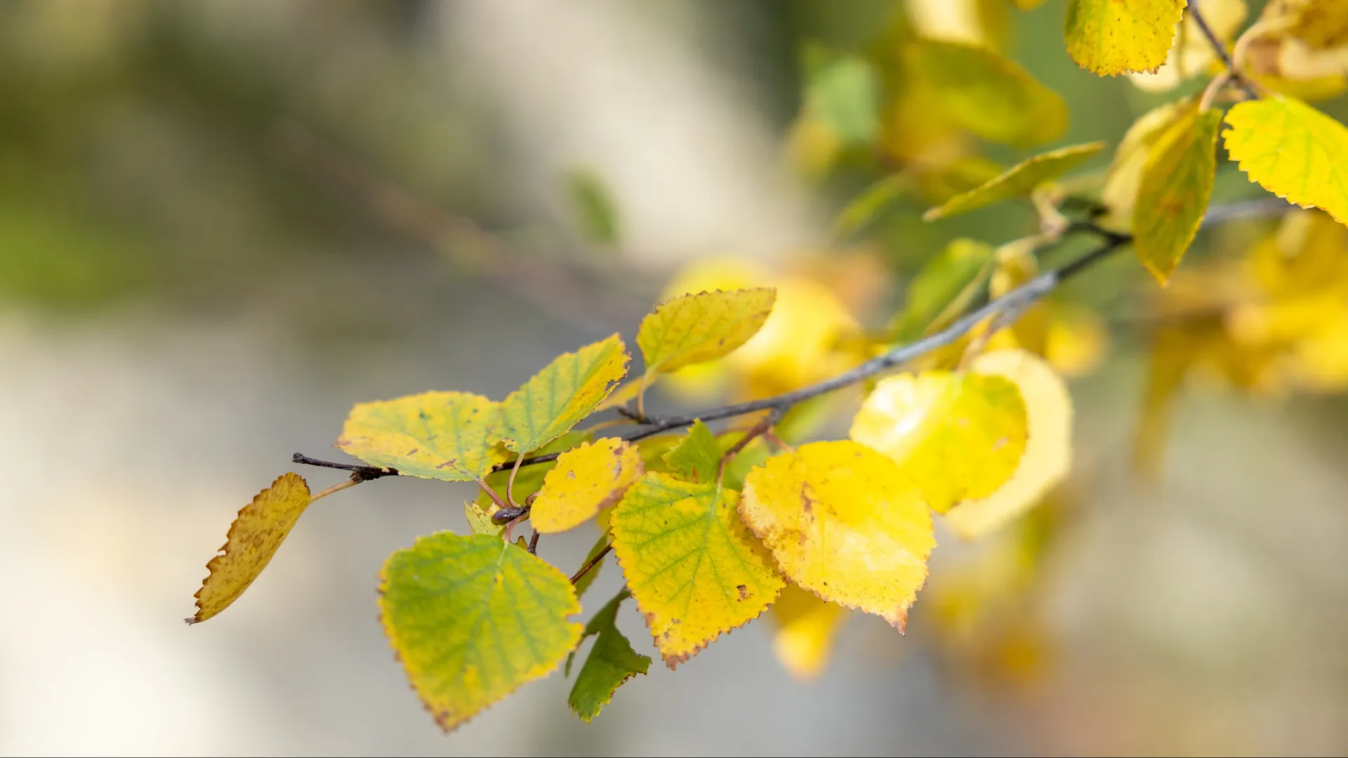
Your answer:
[[[1043,360],[1024,351],[996,351],[973,359],[971,371],[1015,383],[1024,401],[1029,441],[1011,479],[991,496],[960,503],[946,514],[956,534],[975,538],[1035,506],[1072,467],[1072,397]]]

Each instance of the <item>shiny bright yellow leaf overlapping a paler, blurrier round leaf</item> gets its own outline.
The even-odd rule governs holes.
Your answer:
[[[945,513],[1011,477],[1026,445],[1026,409],[1002,376],[925,371],[882,379],[851,437],[888,456]]]

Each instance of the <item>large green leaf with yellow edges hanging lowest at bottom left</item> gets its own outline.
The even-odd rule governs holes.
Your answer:
[[[426,709],[446,731],[547,676],[581,638],[566,576],[496,537],[441,531],[388,557],[379,610]]]

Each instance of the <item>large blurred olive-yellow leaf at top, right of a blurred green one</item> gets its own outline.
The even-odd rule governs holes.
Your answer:
[[[941,111],[984,139],[1039,144],[1068,128],[1062,97],[987,47],[925,39],[909,47],[909,62],[931,85]]]

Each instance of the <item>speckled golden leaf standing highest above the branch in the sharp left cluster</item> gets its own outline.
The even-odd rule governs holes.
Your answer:
[[[772,313],[776,290],[697,293],[666,301],[642,320],[636,344],[647,375],[714,360],[743,345]]]

